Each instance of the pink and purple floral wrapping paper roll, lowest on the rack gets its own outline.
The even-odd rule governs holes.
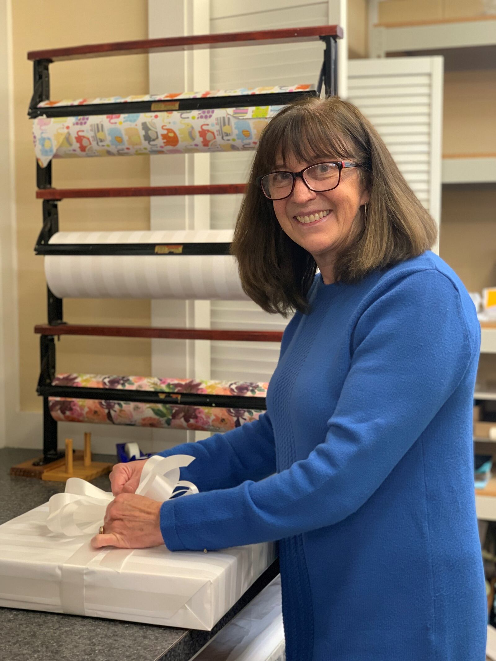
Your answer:
[[[103,376],[98,374],[60,374],[52,385],[87,388],[146,390],[164,393],[208,393],[265,397],[268,383],[246,381],[196,381],[159,379],[144,376]],[[138,427],[227,432],[245,422],[257,420],[261,410],[240,408],[192,407],[93,399],[49,397],[50,414],[58,422],[99,422]],[[253,402],[256,405],[256,402]]]

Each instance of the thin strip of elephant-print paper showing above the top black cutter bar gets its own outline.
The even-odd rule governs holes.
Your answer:
[[[315,85],[274,85],[272,87],[240,87],[239,89],[215,89],[205,92],[177,92],[168,94],[143,94],[132,97],[77,98],[62,101],[42,101],[36,108],[57,106],[89,106],[98,103],[129,103],[133,101],[174,101],[181,98],[241,97],[253,94],[281,94],[288,92],[311,92]]]

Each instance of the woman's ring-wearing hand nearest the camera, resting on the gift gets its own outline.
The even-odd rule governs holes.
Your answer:
[[[137,494],[119,494],[106,508],[103,535],[91,539],[94,549],[146,549],[163,544],[160,531],[161,502]]]

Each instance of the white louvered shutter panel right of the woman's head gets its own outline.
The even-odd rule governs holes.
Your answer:
[[[348,73],[348,100],[374,124],[439,225],[442,58],[351,59]]]

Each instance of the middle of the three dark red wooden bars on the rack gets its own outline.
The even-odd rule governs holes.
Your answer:
[[[68,200],[74,198],[141,198],[157,195],[233,195],[244,193],[246,184],[214,184],[205,186],[129,186],[126,188],[41,188],[38,200]]]

